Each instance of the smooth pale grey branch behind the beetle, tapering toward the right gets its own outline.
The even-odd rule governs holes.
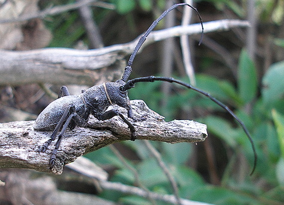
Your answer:
[[[242,20],[224,19],[204,23],[204,32],[247,27]],[[152,31],[143,47],[166,38],[201,32],[200,24]],[[0,51],[0,85],[27,83],[94,85],[120,79],[139,37],[126,44],[94,50],[46,48],[31,51]]]

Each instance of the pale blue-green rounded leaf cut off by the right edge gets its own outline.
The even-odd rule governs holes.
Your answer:
[[[263,77],[262,96],[265,104],[281,100],[284,95],[284,61],[272,64]]]

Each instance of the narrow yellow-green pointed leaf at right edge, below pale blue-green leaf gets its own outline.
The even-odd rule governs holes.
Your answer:
[[[281,155],[284,158],[284,116],[279,114],[276,110],[272,110],[272,117],[276,126],[278,141],[280,145]]]

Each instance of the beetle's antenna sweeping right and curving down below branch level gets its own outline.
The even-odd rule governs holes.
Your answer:
[[[245,131],[246,135],[248,136],[250,142],[251,142],[251,145],[252,145],[252,148],[253,148],[253,152],[254,152],[254,157],[255,157],[255,160],[254,160],[254,167],[253,167],[253,170],[251,172],[250,175],[252,175],[256,169],[256,166],[257,166],[257,152],[256,152],[256,148],[255,148],[255,145],[254,145],[254,141],[246,127],[246,125],[244,124],[244,122],[242,122],[238,117],[237,115],[227,106],[225,105],[224,103],[220,102],[219,100],[217,100],[216,98],[212,97],[209,93],[206,93],[198,88],[195,88],[193,86],[191,86],[190,84],[187,84],[187,83],[184,83],[182,81],[179,81],[179,80],[176,80],[174,78],[166,78],[166,77],[154,77],[154,76],[148,76],[148,77],[142,77],[142,78],[135,78],[135,79],[132,79],[132,80],[129,80],[125,86],[122,86],[120,88],[121,91],[127,91],[131,88],[134,88],[134,85],[136,83],[139,83],[139,82],[154,82],[154,81],[165,81],[165,82],[169,82],[169,83],[177,83],[179,85],[182,85],[182,86],[185,86],[186,88],[189,88],[189,89],[192,89],[194,91],[197,91],[198,93],[208,97],[211,101],[213,101],[214,103],[218,104],[219,106],[221,106],[222,108],[224,108],[225,110],[227,110],[236,120],[237,122],[241,125],[241,127],[243,128],[243,130]]]

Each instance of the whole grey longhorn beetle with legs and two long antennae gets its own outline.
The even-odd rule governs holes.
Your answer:
[[[248,136],[252,149],[254,152],[254,166],[251,174],[255,171],[256,163],[257,163],[257,154],[254,146],[253,139],[246,128],[245,124],[236,116],[236,114],[225,104],[221,103],[214,97],[212,97],[209,93],[206,93],[198,88],[191,86],[190,84],[186,84],[182,81],[167,78],[167,77],[142,77],[142,78],[135,78],[132,80],[128,80],[131,72],[132,72],[132,64],[136,54],[138,53],[139,49],[141,48],[143,42],[146,40],[146,37],[149,33],[153,30],[153,28],[158,24],[158,22],[167,15],[168,12],[175,9],[178,6],[189,6],[190,8],[194,9],[197,13],[201,27],[202,33],[200,42],[202,41],[203,36],[203,23],[202,19],[199,15],[198,10],[187,4],[187,3],[178,3],[172,5],[170,8],[165,10],[155,21],[152,22],[150,27],[145,31],[145,33],[140,37],[139,42],[137,43],[133,53],[130,56],[127,66],[125,67],[124,74],[121,80],[117,80],[116,82],[106,82],[100,85],[95,85],[85,92],[82,92],[80,95],[70,96],[68,89],[66,86],[62,86],[58,95],[58,99],[50,103],[37,117],[34,129],[35,130],[53,130],[50,139],[48,139],[39,149],[38,152],[45,152],[48,146],[50,145],[51,141],[55,140],[58,136],[58,140],[55,143],[55,148],[51,152],[51,157],[49,160],[49,166],[52,168],[55,164],[57,150],[60,146],[60,142],[66,129],[74,129],[75,126],[85,126],[88,122],[89,115],[92,114],[99,120],[106,120],[110,119],[116,115],[119,115],[122,120],[128,125],[131,131],[131,140],[134,141],[136,139],[136,129],[133,124],[118,110],[118,109],[111,109],[107,110],[107,108],[112,104],[117,104],[121,107],[124,107],[128,110],[128,117],[132,118],[133,120],[139,121],[144,120],[143,117],[138,119],[133,115],[132,107],[130,104],[130,100],[128,97],[127,91],[134,88],[136,83],[139,82],[154,82],[154,81],[164,81],[169,83],[176,83],[182,85],[188,89],[194,90],[212,100],[214,103],[217,103],[219,106],[227,110],[241,125],[243,130],[245,131],[246,135]],[[60,132],[59,132],[60,131]],[[58,134],[59,132],[59,134]]]

